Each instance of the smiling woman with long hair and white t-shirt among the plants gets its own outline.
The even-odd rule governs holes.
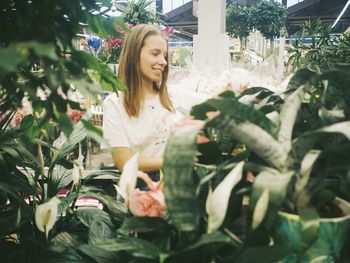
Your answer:
[[[177,119],[170,101],[168,42],[153,25],[135,26],[120,56],[118,76],[128,90],[103,105],[103,132],[117,168],[140,152],[139,169],[158,172],[170,128]]]

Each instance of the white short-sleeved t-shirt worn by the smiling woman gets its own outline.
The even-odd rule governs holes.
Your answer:
[[[103,102],[103,134],[109,147],[127,147],[140,156],[161,158],[172,125],[179,116],[166,110],[159,96],[146,99],[139,117],[129,117],[115,93]],[[104,146],[103,148],[107,148]]]

